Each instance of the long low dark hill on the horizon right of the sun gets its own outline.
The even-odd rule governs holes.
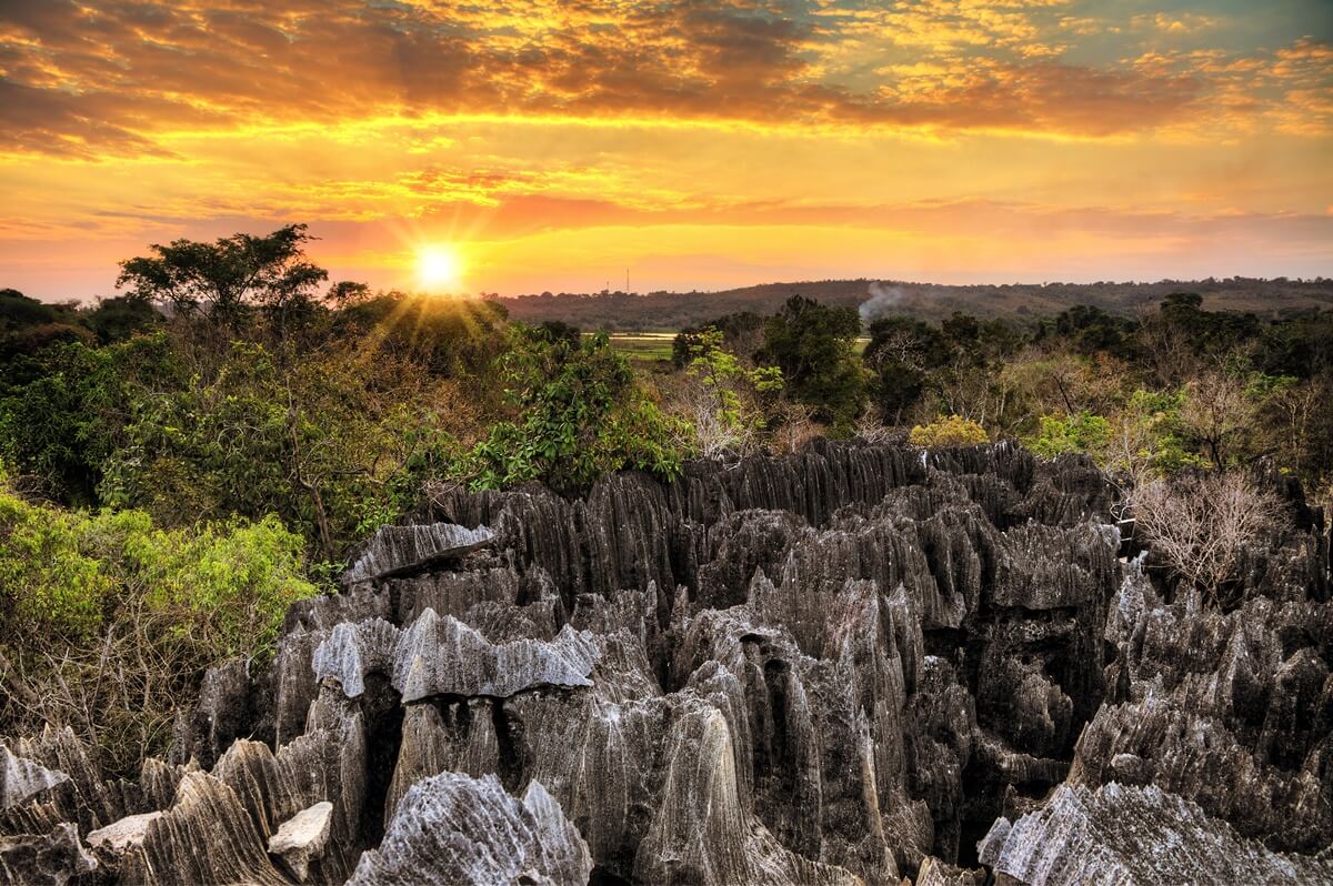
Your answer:
[[[1070,305],[1096,305],[1118,314],[1134,314],[1173,292],[1196,292],[1209,310],[1250,310],[1277,317],[1310,308],[1333,309],[1333,280],[1162,280],[1158,282],[1002,284],[940,286],[934,284],[818,280],[770,282],[721,292],[653,292],[644,296],[543,293],[499,298],[509,316],[525,322],[563,320],[581,329],[676,330],[725,313],[753,310],[768,314],[786,298],[802,294],[825,304],[861,306],[862,317],[910,313],[928,320],[956,310],[982,317],[1041,317]]]

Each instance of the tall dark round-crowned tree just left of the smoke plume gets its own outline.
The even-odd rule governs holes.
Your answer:
[[[854,308],[828,308],[792,296],[764,328],[761,362],[782,370],[789,396],[816,417],[850,428],[865,406],[865,376],[856,360],[861,318]]]

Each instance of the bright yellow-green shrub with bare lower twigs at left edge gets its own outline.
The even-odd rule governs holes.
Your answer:
[[[69,725],[135,770],[208,666],[272,653],[287,608],[317,593],[304,573],[275,517],[171,530],[0,489],[0,731]]]

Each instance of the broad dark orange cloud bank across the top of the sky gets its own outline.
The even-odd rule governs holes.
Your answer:
[[[1070,5],[9,0],[0,151],[137,155],[179,131],[481,113],[1101,137],[1202,119],[1209,96],[1260,76],[1220,72],[1234,53],[1198,69],[1182,56],[1160,71],[1068,61],[1070,39],[1094,32]],[[1193,33],[1217,20],[1122,24]],[[1324,87],[1280,87],[1326,73],[1326,52],[1288,47],[1254,80],[1288,131],[1324,131],[1310,95]],[[1296,127],[1284,103],[1316,123]]]

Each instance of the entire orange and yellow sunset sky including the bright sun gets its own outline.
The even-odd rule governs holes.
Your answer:
[[[0,286],[1333,276],[1333,3],[0,0]]]

